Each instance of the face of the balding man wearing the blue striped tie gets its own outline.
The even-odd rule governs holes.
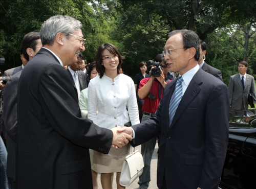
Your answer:
[[[171,36],[165,43],[164,49],[177,49],[183,47],[183,39],[180,33]],[[189,49],[177,49],[172,51],[170,55],[165,53],[164,59],[168,69],[171,72],[178,72],[180,75],[185,74],[189,69]]]

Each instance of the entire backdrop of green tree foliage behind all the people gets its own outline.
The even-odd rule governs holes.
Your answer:
[[[0,56],[6,58],[2,70],[21,64],[20,43],[25,34],[39,31],[45,20],[60,14],[82,22],[87,39],[83,55],[89,62],[95,60],[102,43],[113,43],[126,57],[122,68],[132,78],[139,72],[139,62],[162,52],[168,32],[194,30],[208,45],[206,62],[220,69],[228,84],[247,53],[238,28],[250,24],[254,31],[256,23],[255,1],[1,0],[0,5]],[[255,75],[255,34],[249,39],[248,56],[248,74]]]

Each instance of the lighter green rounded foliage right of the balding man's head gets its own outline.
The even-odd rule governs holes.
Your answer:
[[[243,33],[233,33],[230,28],[218,29],[208,35],[206,62],[222,71],[223,81],[226,85],[229,83],[230,76],[238,73],[238,63],[243,60],[244,49],[238,40],[243,41]],[[236,35],[234,38],[233,35]],[[254,75],[256,69],[255,52],[256,43],[253,42],[255,36],[250,39],[249,46],[249,67],[247,73]]]

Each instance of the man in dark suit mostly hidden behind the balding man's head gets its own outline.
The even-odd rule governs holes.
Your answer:
[[[199,66],[207,73],[217,77],[222,81],[222,74],[221,71],[215,67],[210,66],[209,64],[206,64],[205,60],[205,54],[207,50],[207,44],[200,39],[200,58],[198,60]]]

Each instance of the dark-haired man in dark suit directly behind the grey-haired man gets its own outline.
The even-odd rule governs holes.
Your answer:
[[[22,54],[27,61],[30,61],[41,49],[42,43],[39,32],[30,32],[23,37]],[[7,131],[7,175],[12,180],[13,188],[16,188],[15,159],[17,140],[17,91],[18,80],[22,70],[14,74],[6,83],[4,92],[4,122]]]

